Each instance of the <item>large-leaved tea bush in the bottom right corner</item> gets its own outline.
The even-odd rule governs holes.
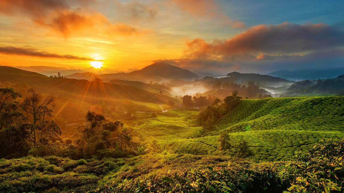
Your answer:
[[[290,180],[289,192],[341,192],[344,185],[344,138],[322,140],[296,164],[279,167],[281,180]]]

